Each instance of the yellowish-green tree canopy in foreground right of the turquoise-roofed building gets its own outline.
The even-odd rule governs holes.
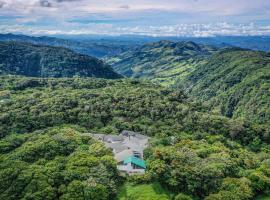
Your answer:
[[[270,187],[269,146],[255,153],[207,134],[178,135],[173,144],[149,149],[148,173],[175,193],[206,200],[244,200]]]

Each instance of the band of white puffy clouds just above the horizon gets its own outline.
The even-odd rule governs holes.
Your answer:
[[[84,28],[70,26],[69,29],[42,29],[26,28],[21,25],[0,25],[1,32],[24,33],[31,35],[146,35],[146,36],[185,36],[185,37],[211,37],[217,35],[270,35],[270,26],[255,24],[178,24],[172,26],[135,26],[119,27],[112,24],[90,24]]]

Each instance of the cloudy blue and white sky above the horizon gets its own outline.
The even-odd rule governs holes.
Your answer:
[[[0,0],[0,33],[270,35],[270,0]]]

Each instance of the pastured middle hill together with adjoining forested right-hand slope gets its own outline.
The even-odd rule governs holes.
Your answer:
[[[217,114],[270,121],[270,54],[192,42],[149,43],[109,59],[120,74],[179,86]]]

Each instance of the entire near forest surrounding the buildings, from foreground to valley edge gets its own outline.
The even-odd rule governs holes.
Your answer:
[[[270,186],[269,126],[213,115],[181,90],[2,76],[0,104],[1,199],[113,199],[122,184],[116,163],[86,133],[121,130],[152,136],[147,172],[132,184],[207,200],[252,199]]]

